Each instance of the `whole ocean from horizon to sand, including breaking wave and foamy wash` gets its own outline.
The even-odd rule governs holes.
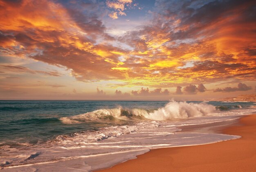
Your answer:
[[[0,168],[99,170],[150,149],[238,139],[214,128],[255,112],[255,102],[0,101]]]

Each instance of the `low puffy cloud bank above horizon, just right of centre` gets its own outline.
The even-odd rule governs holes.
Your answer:
[[[155,96],[159,96],[159,95],[169,95],[169,91],[168,89],[164,89],[164,91],[162,91],[162,88],[156,88],[153,91],[149,91],[148,88],[141,88],[141,90],[137,90],[134,91],[132,90],[132,95],[135,96],[148,96],[148,95],[155,95]]]

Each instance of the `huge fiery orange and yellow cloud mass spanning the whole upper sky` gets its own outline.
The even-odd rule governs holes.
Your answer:
[[[102,21],[107,7],[101,5],[118,17],[132,6],[131,0],[1,1],[0,51],[61,66],[83,82],[116,80],[151,88],[161,83],[167,88],[255,81],[255,3],[157,0],[150,24],[112,37]]]

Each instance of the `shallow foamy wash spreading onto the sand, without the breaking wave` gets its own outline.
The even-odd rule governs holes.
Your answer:
[[[192,117],[189,120],[143,121],[131,126],[104,127],[99,131],[76,133],[73,137],[62,135],[45,144],[19,150],[9,150],[9,147],[4,147],[4,153],[8,156],[4,157],[3,161],[16,166],[12,167],[12,170],[29,171],[32,168],[44,171],[99,170],[133,159],[150,149],[200,145],[240,138],[215,133],[183,133],[177,132],[181,129],[176,128],[182,125],[197,125],[235,118],[237,115],[202,116]],[[28,159],[35,152],[40,154]],[[4,166],[4,171],[8,170],[8,165]]]

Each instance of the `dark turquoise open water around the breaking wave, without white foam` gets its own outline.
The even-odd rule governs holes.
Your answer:
[[[188,101],[190,103],[191,101]],[[58,135],[72,135],[75,132],[99,130],[104,126],[125,125],[132,121],[115,123],[114,121],[88,121],[86,123],[67,124],[61,117],[92,112],[99,109],[141,108],[156,110],[164,107],[168,101],[0,101],[0,146],[19,143],[40,143]],[[193,103],[201,103],[193,101]],[[221,110],[246,109],[254,102],[218,102],[211,104]]]

